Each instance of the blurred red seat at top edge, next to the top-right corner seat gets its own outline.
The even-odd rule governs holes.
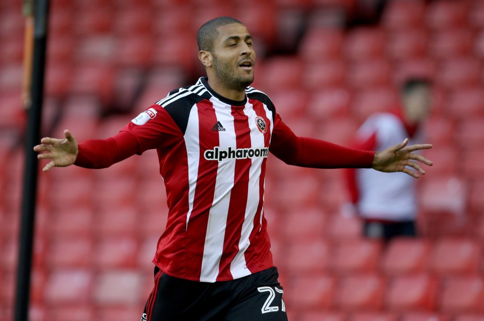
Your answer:
[[[459,2],[437,1],[427,7],[426,23],[431,29],[462,27],[467,19],[467,7]]]

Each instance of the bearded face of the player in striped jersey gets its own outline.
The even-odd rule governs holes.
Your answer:
[[[244,90],[254,81],[254,41],[238,23],[219,27],[218,32],[212,52],[214,76],[228,89]]]

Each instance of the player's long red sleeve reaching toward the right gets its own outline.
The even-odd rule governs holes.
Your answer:
[[[313,168],[370,168],[375,152],[297,137],[276,113],[270,152],[289,165]]]

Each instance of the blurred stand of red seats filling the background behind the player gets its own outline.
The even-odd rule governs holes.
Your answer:
[[[347,145],[398,105],[407,76],[434,81],[419,180],[420,236],[384,246],[341,213],[340,170],[269,158],[265,213],[290,320],[484,320],[484,1],[53,0],[42,136],[114,135],[204,75],[196,31],[246,24],[254,86],[299,136]],[[24,167],[21,2],[0,2],[0,320],[12,318]],[[42,165],[43,166],[43,165]],[[30,319],[137,320],[166,222],[156,152],[39,178]]]

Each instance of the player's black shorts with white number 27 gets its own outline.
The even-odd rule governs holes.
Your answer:
[[[178,279],[155,269],[142,321],[287,321],[276,268],[215,283]]]

